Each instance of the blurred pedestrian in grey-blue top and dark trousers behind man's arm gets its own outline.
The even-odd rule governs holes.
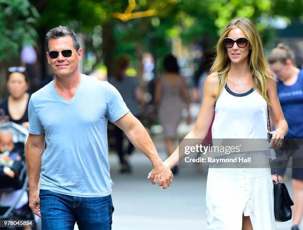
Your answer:
[[[143,105],[143,92],[140,88],[138,77],[129,77],[126,70],[129,68],[129,59],[126,56],[121,56],[116,60],[114,67],[114,76],[110,77],[108,82],[113,85],[121,94],[125,104],[130,112],[139,118],[141,110],[140,105]],[[119,127],[115,126],[116,147],[120,160],[120,173],[130,173],[131,166],[126,159],[129,157],[133,150],[134,145],[131,141],[127,141],[127,148],[124,149],[124,133]],[[125,155],[127,154],[127,155]]]

